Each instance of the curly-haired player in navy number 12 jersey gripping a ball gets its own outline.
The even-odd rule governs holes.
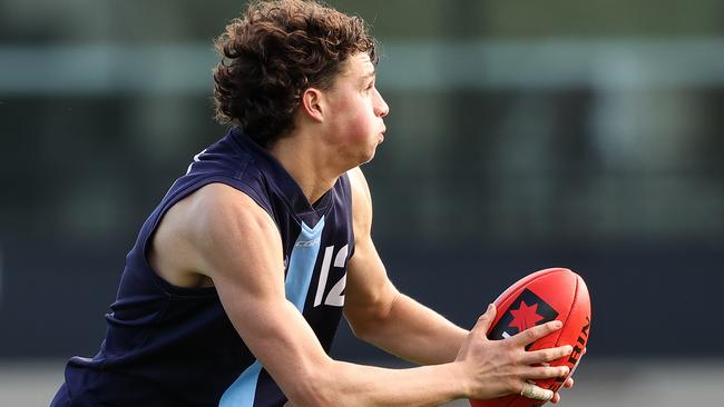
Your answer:
[[[437,406],[508,394],[570,347],[526,351],[558,328],[486,338],[401,294],[371,239],[359,166],[384,140],[375,42],[312,1],[253,2],[217,40],[216,116],[232,130],[198,153],[144,224],[108,330],[74,357],[52,406]],[[422,366],[332,359],[337,324]],[[570,383],[569,383],[570,384]]]

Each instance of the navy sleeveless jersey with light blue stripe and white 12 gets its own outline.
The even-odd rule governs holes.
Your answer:
[[[99,353],[70,359],[51,406],[284,405],[286,397],[244,345],[216,289],[172,286],[147,261],[150,238],[168,208],[211,182],[243,191],[274,219],[286,298],[329,351],[354,249],[349,179],[340,177],[312,206],[265,149],[233,129],[194,158],[144,224],[106,315]]]

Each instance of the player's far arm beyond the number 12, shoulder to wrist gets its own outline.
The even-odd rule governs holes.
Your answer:
[[[352,186],[354,256],[348,266],[344,315],[355,336],[422,365],[454,360],[468,330],[401,294],[388,278],[372,242],[372,200],[362,171]]]

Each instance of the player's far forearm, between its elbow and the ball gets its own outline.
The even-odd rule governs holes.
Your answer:
[[[374,320],[361,336],[405,360],[434,365],[454,360],[467,335],[468,330],[400,294],[384,317]]]

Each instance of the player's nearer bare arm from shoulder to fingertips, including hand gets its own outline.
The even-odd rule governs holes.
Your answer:
[[[384,369],[331,359],[284,294],[282,245],[276,226],[251,198],[222,185],[199,190],[188,231],[197,267],[211,277],[244,343],[295,406],[433,406],[460,397],[519,393],[524,376],[558,377],[566,368],[529,365],[569,349],[525,353],[548,335],[536,327],[518,341],[487,341],[495,310],[481,318],[454,363]],[[513,346],[515,345],[515,346]],[[214,346],[214,344],[209,344]]]

